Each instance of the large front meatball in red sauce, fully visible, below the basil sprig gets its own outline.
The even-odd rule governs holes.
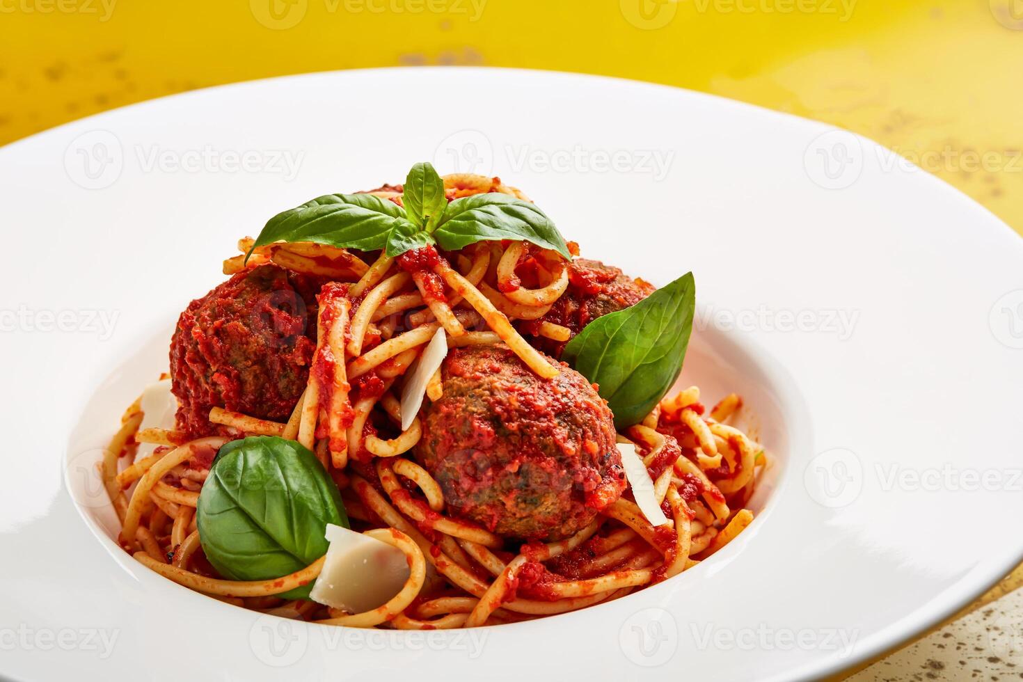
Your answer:
[[[622,494],[611,410],[560,369],[542,379],[504,345],[448,354],[414,454],[453,512],[503,537],[561,540]]]

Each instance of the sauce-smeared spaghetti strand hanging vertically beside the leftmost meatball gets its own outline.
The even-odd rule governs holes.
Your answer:
[[[343,469],[348,464],[348,423],[351,418],[352,406],[349,402],[348,376],[345,368],[345,334],[349,331],[348,315],[352,303],[347,290],[330,285],[323,287],[319,297],[319,326],[326,332],[326,345],[322,347],[313,361],[310,374],[315,374],[321,381],[329,381],[326,391],[326,427],[327,444],[330,451],[330,461],[336,469]],[[325,370],[317,371],[317,363],[325,364]]]

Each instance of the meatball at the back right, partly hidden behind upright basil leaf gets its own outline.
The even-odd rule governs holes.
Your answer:
[[[655,287],[641,279],[632,279],[616,267],[599,261],[575,259],[569,266],[569,286],[565,293],[539,320],[523,322],[521,328],[536,334],[540,322],[568,327],[575,336],[587,324],[609,313],[635,305],[653,293]],[[536,335],[531,343],[541,351],[560,357],[565,343]]]

